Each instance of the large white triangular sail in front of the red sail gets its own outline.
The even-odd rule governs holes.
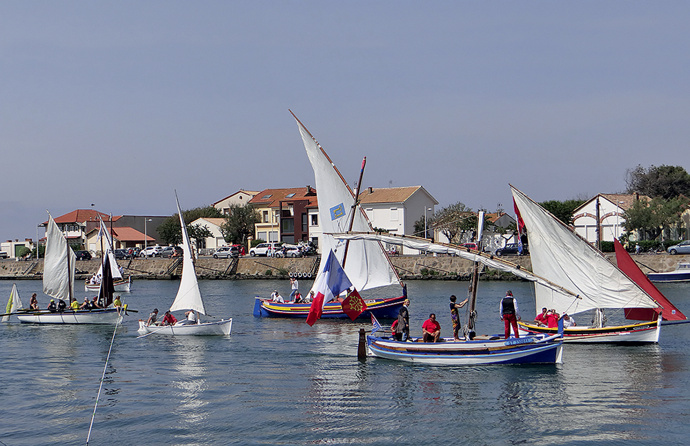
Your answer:
[[[573,300],[535,286],[536,307],[558,313],[595,308],[656,308],[659,305],[580,235],[511,186],[529,237],[532,271],[578,293]]]

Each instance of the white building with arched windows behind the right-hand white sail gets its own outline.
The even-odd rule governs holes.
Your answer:
[[[623,213],[637,200],[649,201],[650,199],[640,194],[600,193],[595,195],[573,211],[575,232],[590,243],[597,241],[597,232],[600,234],[599,240],[613,242],[614,238],[625,233]]]

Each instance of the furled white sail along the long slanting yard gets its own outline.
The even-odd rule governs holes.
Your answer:
[[[513,273],[517,277],[524,280],[529,280],[531,282],[536,282],[542,286],[551,289],[554,293],[559,293],[569,300],[578,299],[578,295],[560,287],[560,285],[553,282],[549,282],[530,271],[526,271],[519,265],[506,262],[499,258],[493,257],[493,255],[486,255],[483,253],[478,253],[477,251],[469,251],[466,248],[458,248],[451,246],[449,244],[433,243],[420,237],[413,237],[410,235],[394,235],[394,234],[380,234],[380,233],[333,233],[331,234],[337,240],[376,240],[378,242],[383,242],[387,244],[394,244],[397,246],[406,246],[411,249],[417,249],[419,251],[428,251],[430,253],[446,254],[446,255],[457,255],[457,257],[464,258],[466,260],[471,260],[472,262],[480,262],[491,269],[497,269],[498,271],[505,271],[506,273]]]

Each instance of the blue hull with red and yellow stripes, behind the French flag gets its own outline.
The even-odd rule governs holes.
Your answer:
[[[359,315],[359,318],[368,318],[371,313],[376,318],[395,319],[400,313],[400,307],[406,297],[389,299],[364,300],[368,309]],[[271,302],[268,299],[257,297],[254,302],[254,316],[257,318],[306,318],[311,304],[290,304]],[[322,318],[350,318],[343,311],[340,302],[328,302],[324,305]]]

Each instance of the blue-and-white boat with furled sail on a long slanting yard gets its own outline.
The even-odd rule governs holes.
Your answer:
[[[480,213],[478,221],[480,226],[477,234],[481,234],[484,221],[482,213]],[[474,326],[479,263],[514,273],[526,280],[542,283],[545,287],[554,289],[559,293],[568,293],[558,285],[533,275],[529,271],[524,271],[516,264],[493,258],[493,255],[486,255],[480,251],[464,249],[450,244],[433,243],[420,237],[375,233],[334,233],[333,237],[351,241],[376,240],[412,249],[431,251],[432,253],[457,255],[475,262],[470,304],[467,310],[468,317],[463,329],[464,340],[442,338],[440,342],[423,342],[421,339],[412,338],[413,342],[408,342],[398,341],[387,336],[374,336],[372,333],[371,336],[366,337],[366,345],[371,356],[430,365],[553,364],[562,362],[562,324],[560,332],[557,331],[551,336],[538,334],[508,339],[499,335],[476,336]],[[477,244],[481,246],[481,238]]]

